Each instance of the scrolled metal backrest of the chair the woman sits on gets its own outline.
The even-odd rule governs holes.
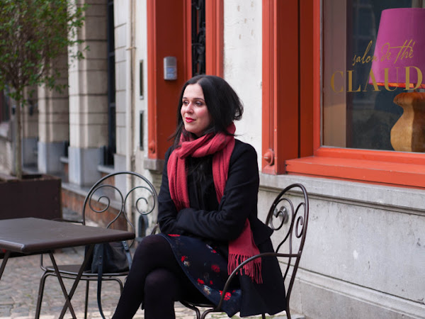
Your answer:
[[[288,280],[288,274],[290,276],[289,284],[286,286],[288,306],[307,234],[308,212],[309,198],[305,187],[302,184],[291,184],[275,198],[266,218],[266,224],[275,230],[273,234],[275,252],[280,257],[285,257],[287,262],[283,276],[285,282]],[[278,241],[274,242],[276,237]]]

